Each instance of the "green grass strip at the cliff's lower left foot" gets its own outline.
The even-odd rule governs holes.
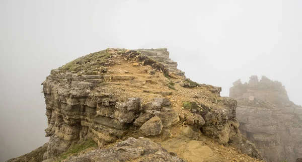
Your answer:
[[[82,143],[72,144],[65,152],[63,152],[56,161],[61,161],[74,153],[79,153],[87,148],[97,148],[97,143],[92,139],[83,141]]]

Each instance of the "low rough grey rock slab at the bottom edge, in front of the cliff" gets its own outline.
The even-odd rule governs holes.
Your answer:
[[[183,160],[148,138],[128,138],[107,149],[92,150],[85,154],[71,156],[68,161],[174,161]]]

